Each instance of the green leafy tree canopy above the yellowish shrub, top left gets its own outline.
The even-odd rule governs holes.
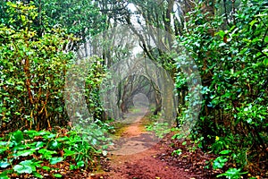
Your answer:
[[[11,0],[1,1],[0,4],[1,23],[19,30],[25,26],[24,21],[29,20],[28,27],[37,30],[39,37],[46,30],[61,26],[68,34],[73,34],[83,42],[86,38],[106,29],[105,15],[100,13],[95,1],[40,0],[30,1],[27,4]],[[14,9],[11,10],[9,6],[13,6]]]

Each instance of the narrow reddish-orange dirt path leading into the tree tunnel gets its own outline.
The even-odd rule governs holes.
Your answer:
[[[121,132],[111,160],[102,174],[94,178],[105,179],[186,179],[195,178],[178,166],[171,166],[159,157],[166,155],[169,138],[155,142],[155,136],[145,131],[143,115],[136,115],[130,125]],[[131,120],[130,120],[131,121]]]

